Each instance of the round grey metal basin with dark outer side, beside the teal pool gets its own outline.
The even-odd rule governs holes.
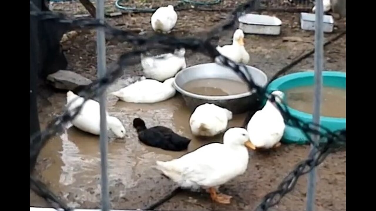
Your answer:
[[[268,78],[264,72],[252,66],[246,65],[246,67],[256,84],[263,87],[267,84]],[[236,95],[208,96],[198,95],[183,89],[184,84],[187,82],[205,78],[223,78],[245,83],[232,69],[218,65],[217,63],[204,63],[183,69],[175,75],[173,86],[182,94],[185,104],[192,111],[198,105],[206,102],[224,107],[233,114],[244,113],[258,108],[259,99],[249,91]]]

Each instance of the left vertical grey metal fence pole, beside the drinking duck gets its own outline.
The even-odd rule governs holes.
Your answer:
[[[105,2],[96,0],[97,19],[105,23]],[[97,28],[97,76],[104,77],[106,74],[106,43],[105,31],[103,28]],[[99,97],[100,105],[100,163],[101,163],[101,190],[102,190],[102,210],[109,211],[109,188],[107,174],[107,119],[106,119],[106,93],[103,92]]]

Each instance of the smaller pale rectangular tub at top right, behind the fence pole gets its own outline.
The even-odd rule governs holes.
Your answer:
[[[300,13],[300,27],[303,30],[314,31],[315,20],[316,20],[316,16],[314,13],[306,13],[306,12]],[[334,26],[333,16],[324,15],[323,21],[324,21],[323,31],[327,33],[333,32],[333,26]]]

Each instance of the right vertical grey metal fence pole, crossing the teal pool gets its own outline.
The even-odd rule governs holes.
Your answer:
[[[315,93],[313,102],[313,122],[315,124],[320,123],[320,110],[321,110],[321,87],[322,87],[322,71],[323,71],[323,54],[324,54],[324,32],[323,32],[323,2],[318,0],[315,2],[315,54],[314,54],[314,65],[315,65]],[[320,136],[314,134],[312,140],[318,143]],[[316,149],[314,145],[311,144],[310,156],[313,156]],[[313,168],[308,175],[307,184],[307,209],[306,211],[314,211],[315,202],[315,190],[316,190],[316,168]]]

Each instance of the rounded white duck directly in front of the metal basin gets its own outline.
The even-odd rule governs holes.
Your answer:
[[[218,105],[205,103],[192,113],[189,124],[195,136],[215,136],[226,130],[232,112]]]

